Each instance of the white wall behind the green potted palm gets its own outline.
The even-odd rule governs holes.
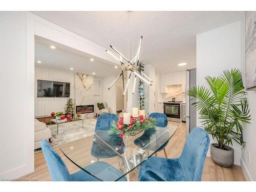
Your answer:
[[[241,22],[232,23],[197,35],[197,84],[206,86],[206,75],[218,76],[223,70],[242,66]],[[200,120],[197,118],[197,125]],[[212,139],[211,139],[212,142]],[[240,165],[241,147],[233,143],[234,163]],[[210,153],[208,151],[207,155]]]

